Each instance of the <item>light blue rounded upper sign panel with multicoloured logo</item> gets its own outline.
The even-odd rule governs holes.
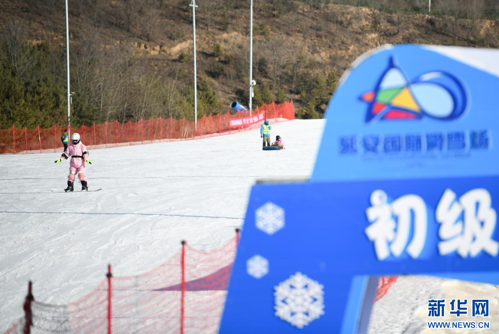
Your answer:
[[[497,175],[498,85],[426,47],[382,49],[329,102],[311,179]]]

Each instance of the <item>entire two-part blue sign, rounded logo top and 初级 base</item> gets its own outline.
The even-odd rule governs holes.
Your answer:
[[[377,275],[499,283],[499,77],[453,50],[365,57],[310,182],[253,186],[221,333],[362,333]]]

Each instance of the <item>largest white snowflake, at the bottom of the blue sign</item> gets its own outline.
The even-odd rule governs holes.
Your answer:
[[[274,287],[275,316],[301,329],[324,314],[324,286],[302,273]]]

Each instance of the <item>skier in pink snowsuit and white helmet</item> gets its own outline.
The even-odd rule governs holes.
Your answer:
[[[78,178],[81,182],[81,190],[88,190],[87,177],[85,176],[85,162],[92,165],[92,162],[88,160],[88,151],[85,145],[80,142],[80,135],[74,133],[71,136],[72,145],[68,146],[61,158],[56,160],[55,163],[60,163],[63,160],[68,159],[69,161],[69,175],[67,176],[67,188],[64,191],[73,191],[73,183],[75,175],[78,174]]]

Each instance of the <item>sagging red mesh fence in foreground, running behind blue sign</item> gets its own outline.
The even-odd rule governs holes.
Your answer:
[[[217,333],[238,245],[236,237],[214,251],[185,242],[159,267],[136,276],[107,278],[96,289],[66,305],[33,300],[31,282],[24,317],[5,332],[14,333]],[[376,300],[395,282],[381,277]]]

